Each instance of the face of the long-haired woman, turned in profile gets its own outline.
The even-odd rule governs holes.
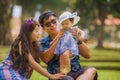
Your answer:
[[[32,31],[31,35],[30,35],[31,41],[38,41],[40,38],[40,30],[39,30],[39,26],[36,25],[35,29]]]

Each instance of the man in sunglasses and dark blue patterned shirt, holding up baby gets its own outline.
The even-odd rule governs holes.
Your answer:
[[[41,50],[45,51],[50,47],[52,40],[59,33],[59,30],[57,29],[58,20],[53,12],[47,11],[40,15],[39,23],[43,30],[48,33],[48,36],[40,41]],[[76,37],[76,31],[77,29],[71,30],[73,37]],[[82,30],[79,29],[78,31],[78,33],[82,34]],[[80,55],[85,58],[90,58],[90,50],[87,45],[81,41],[81,36],[78,37],[78,46]],[[54,53],[44,53],[41,54],[40,57],[48,65],[47,70],[49,73],[59,73],[59,56]],[[94,67],[81,68],[79,56],[76,56],[71,60],[71,71],[68,73],[68,76],[71,76],[73,80],[97,80],[96,69]],[[66,77],[64,80],[70,79],[69,77]]]

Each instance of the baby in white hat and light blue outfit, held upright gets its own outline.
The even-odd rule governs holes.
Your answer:
[[[77,16],[77,13],[72,14],[68,11],[59,17],[60,25],[66,32],[60,39],[55,49],[55,54],[60,56],[60,73],[65,75],[71,71],[70,60],[74,58],[74,56],[79,55],[77,40],[73,38],[70,32],[70,29],[76,25],[79,20],[80,17]]]

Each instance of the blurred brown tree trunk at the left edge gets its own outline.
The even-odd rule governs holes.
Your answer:
[[[12,16],[14,0],[0,1],[0,45],[11,44],[11,33],[9,22]]]

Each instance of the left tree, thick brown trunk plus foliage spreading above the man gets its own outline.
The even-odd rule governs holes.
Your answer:
[[[14,5],[21,5],[22,18],[34,16],[38,9],[40,12],[52,10],[56,13],[65,9],[67,3],[64,0],[1,0],[0,1],[0,45],[8,45],[12,42],[10,19]],[[58,13],[59,14],[59,13]]]

